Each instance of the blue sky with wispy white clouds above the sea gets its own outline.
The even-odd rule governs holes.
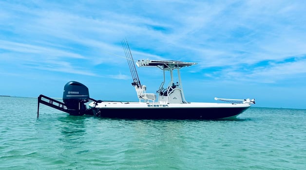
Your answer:
[[[62,97],[78,81],[101,100],[137,101],[121,46],[181,70],[188,102],[255,98],[306,109],[304,0],[1,0],[0,95]],[[163,74],[137,68],[147,92]]]

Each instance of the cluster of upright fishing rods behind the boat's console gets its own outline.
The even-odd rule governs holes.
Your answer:
[[[129,68],[130,68],[130,71],[131,71],[132,78],[133,78],[132,85],[133,86],[136,86],[136,85],[139,86],[141,84],[140,84],[140,80],[139,80],[137,70],[136,70],[136,67],[135,67],[135,62],[134,62],[133,55],[132,55],[132,52],[130,50],[130,46],[128,44],[128,41],[127,40],[122,40],[121,44],[122,44],[126,59],[128,61],[128,64],[129,64]]]

